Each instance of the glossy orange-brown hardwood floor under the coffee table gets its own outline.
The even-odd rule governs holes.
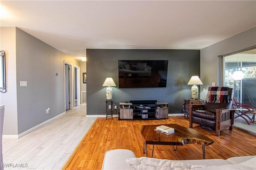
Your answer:
[[[141,125],[177,123],[184,127],[189,127],[188,119],[183,116],[173,116],[169,119],[161,120],[121,120],[97,118],[94,126],[88,131],[84,141],[81,141],[74,157],[70,162],[66,162],[62,169],[85,170],[101,169],[104,154],[111,149],[130,149],[136,157],[146,156],[143,154],[143,139],[140,134]],[[194,125],[200,133],[206,135],[214,141],[212,145],[206,147],[206,159],[223,158],[232,156],[256,155],[256,137],[234,128],[221,131],[220,137],[215,136],[214,131],[201,129]],[[152,146],[148,146],[149,155],[152,153]],[[202,146],[196,144],[178,146],[174,151],[173,146],[155,145],[154,158],[164,158],[170,160],[202,159]],[[114,158],[113,158],[114,159]]]

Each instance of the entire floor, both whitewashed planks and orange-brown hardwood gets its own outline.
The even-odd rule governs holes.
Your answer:
[[[145,156],[142,153],[141,125],[164,123],[189,126],[188,119],[183,116],[137,121],[86,117],[86,106],[80,106],[20,139],[3,139],[4,163],[28,165],[26,168],[4,169],[59,170],[62,166],[62,169],[72,170],[101,169],[104,154],[110,149],[130,149],[137,157]],[[199,126],[194,125],[193,129],[214,141],[206,147],[206,159],[256,154],[256,137],[236,128],[221,131],[220,137]],[[148,153],[152,153],[151,145]],[[71,154],[74,155],[70,157]],[[156,145],[154,158],[201,159],[202,147],[191,144],[178,146],[178,150],[173,151],[172,146]]]

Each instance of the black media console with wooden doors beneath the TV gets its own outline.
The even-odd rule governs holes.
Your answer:
[[[130,100],[119,103],[118,120],[168,119],[168,103],[157,100]]]

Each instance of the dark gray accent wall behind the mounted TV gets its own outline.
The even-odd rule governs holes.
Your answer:
[[[106,77],[112,77],[112,99],[158,100],[169,103],[169,113],[182,113],[184,98],[191,98],[191,76],[200,75],[199,50],[87,49],[87,115],[106,114]],[[118,88],[118,60],[168,60],[166,88]]]

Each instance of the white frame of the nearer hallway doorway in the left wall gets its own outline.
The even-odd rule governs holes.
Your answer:
[[[68,64],[70,66],[70,72],[69,72],[69,101],[70,101],[70,107],[69,109],[74,108],[74,81],[73,81],[73,74],[74,74],[74,66],[72,63],[69,63],[67,61],[64,61],[64,110],[66,111],[66,77],[65,77],[65,64]]]

